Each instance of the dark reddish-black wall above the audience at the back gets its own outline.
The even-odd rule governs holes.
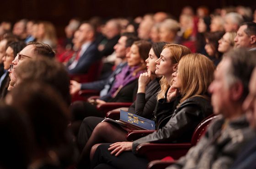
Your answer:
[[[83,20],[91,16],[136,17],[156,11],[169,12],[178,17],[181,8],[207,5],[210,10],[228,5],[256,8],[255,0],[1,0],[0,21],[15,22],[22,18],[52,21],[59,36],[72,17]]]

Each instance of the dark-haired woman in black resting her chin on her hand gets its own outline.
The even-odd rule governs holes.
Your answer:
[[[154,111],[156,104],[155,94],[160,90],[159,80],[161,77],[161,75],[155,74],[155,61],[160,58],[160,53],[165,44],[165,42],[158,42],[152,45],[152,48],[149,51],[149,57],[146,59],[148,72],[139,76],[139,88],[136,100],[129,108],[122,107],[117,110],[122,109],[148,119],[152,118],[152,112]],[[102,117],[85,117],[77,137],[77,142],[81,150],[85,147],[85,143],[87,143],[88,139],[91,137],[91,133],[96,125],[103,119],[104,118]]]

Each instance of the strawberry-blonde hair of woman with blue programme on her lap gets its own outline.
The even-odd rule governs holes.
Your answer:
[[[191,53],[190,49],[178,44],[166,44],[163,49],[168,48],[171,53],[171,63],[177,64],[179,63],[182,56]],[[171,68],[170,68],[171,69]],[[170,85],[167,79],[163,76],[160,80],[161,90],[157,95],[157,99],[162,99],[165,97],[165,92],[169,89]]]

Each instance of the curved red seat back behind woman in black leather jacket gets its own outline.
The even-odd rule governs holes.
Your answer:
[[[192,135],[192,139],[191,139],[192,146],[197,144],[200,138],[205,134],[210,122],[216,118],[219,118],[219,116],[214,116],[214,115],[208,116],[197,126],[197,128],[195,129]]]

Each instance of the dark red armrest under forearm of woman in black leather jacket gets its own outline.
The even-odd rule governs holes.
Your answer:
[[[191,147],[191,143],[142,143],[137,147],[137,152],[145,155],[150,161],[162,159],[166,156],[179,159],[184,156]]]

